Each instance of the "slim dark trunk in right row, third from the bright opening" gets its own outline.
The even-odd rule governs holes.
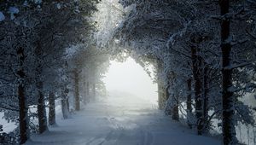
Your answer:
[[[189,78],[187,80],[187,85],[188,85],[188,96],[187,96],[187,124],[189,125],[189,128],[192,129],[191,125],[191,115],[192,115],[192,98],[191,98],[191,83],[192,79]]]

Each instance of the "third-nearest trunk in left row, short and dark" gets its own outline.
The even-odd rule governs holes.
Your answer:
[[[49,125],[55,125],[55,94],[49,92]]]

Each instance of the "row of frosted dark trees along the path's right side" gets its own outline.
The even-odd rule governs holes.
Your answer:
[[[115,30],[113,45],[136,54],[144,66],[154,64],[160,109],[186,119],[198,135],[221,120],[224,144],[236,144],[237,122],[254,124],[253,110],[241,98],[256,88],[256,3],[119,3],[131,10]]]

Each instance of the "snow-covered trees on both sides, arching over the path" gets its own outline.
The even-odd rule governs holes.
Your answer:
[[[128,57],[162,113],[224,145],[256,143],[255,0],[2,0],[0,112],[18,127],[0,122],[0,144],[48,131],[56,101],[69,119],[105,96],[109,61]]]

